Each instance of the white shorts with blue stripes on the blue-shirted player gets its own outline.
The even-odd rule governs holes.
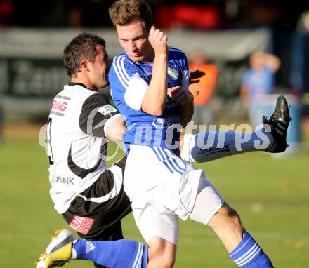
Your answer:
[[[177,245],[178,217],[188,219],[197,194],[206,192],[201,222],[206,224],[223,200],[204,179],[204,172],[162,147],[131,145],[124,174],[124,190],[146,242],[158,236]],[[209,194],[210,195],[209,195]],[[204,193],[205,195],[205,193]]]

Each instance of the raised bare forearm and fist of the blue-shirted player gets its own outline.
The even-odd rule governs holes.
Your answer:
[[[142,110],[147,114],[162,116],[167,95],[167,36],[152,27],[149,41],[155,50],[152,79],[143,97]]]

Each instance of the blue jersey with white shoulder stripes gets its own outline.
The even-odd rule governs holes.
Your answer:
[[[179,105],[169,97],[162,116],[142,111],[141,104],[152,77],[152,62],[132,62],[126,53],[114,58],[109,79],[112,100],[124,116],[128,130],[126,145],[166,147],[178,153],[180,138]],[[188,90],[189,70],[185,53],[169,47],[168,87],[181,86]]]

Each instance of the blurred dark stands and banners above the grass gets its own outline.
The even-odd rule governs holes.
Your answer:
[[[63,48],[78,33],[89,31],[103,36],[111,60],[121,52],[107,13],[112,2],[0,0],[0,128],[4,123],[46,119],[51,99],[68,80],[63,69]],[[193,66],[206,67],[211,85],[197,88],[197,123],[253,120],[250,107],[256,110],[256,106],[250,97],[244,97],[242,86],[251,68],[251,55],[262,51],[275,55],[280,65],[269,77],[257,74],[254,78],[271,79],[270,83],[253,87],[268,86],[257,91],[289,95],[297,129],[289,133],[290,141],[301,140],[301,123],[309,114],[308,3],[149,2],[155,24],[167,32],[169,45],[183,49]],[[194,65],[197,53],[199,63]],[[214,71],[208,69],[211,65]],[[249,96],[254,95],[253,91],[256,89]],[[275,97],[259,101],[263,112],[271,114]]]

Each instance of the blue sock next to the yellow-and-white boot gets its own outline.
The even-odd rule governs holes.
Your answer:
[[[92,260],[110,268],[146,268],[147,246],[129,239],[87,241],[77,239],[72,246],[72,259]]]

